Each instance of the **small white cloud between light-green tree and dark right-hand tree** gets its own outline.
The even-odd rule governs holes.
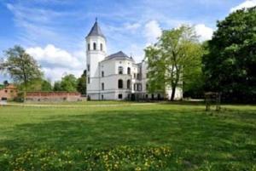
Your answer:
[[[213,29],[205,26],[204,24],[195,25],[195,32],[199,37],[200,41],[210,40],[212,38]]]

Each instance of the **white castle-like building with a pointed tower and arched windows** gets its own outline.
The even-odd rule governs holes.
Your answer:
[[[136,63],[122,51],[107,55],[107,40],[97,21],[86,37],[87,96],[90,100],[135,100],[171,98],[172,90],[164,94],[148,94],[147,62]],[[175,99],[183,97],[177,88]]]

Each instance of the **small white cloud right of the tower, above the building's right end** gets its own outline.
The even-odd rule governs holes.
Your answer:
[[[151,20],[145,25],[144,36],[147,39],[147,43],[155,43],[157,38],[162,34],[160,24],[156,20]]]

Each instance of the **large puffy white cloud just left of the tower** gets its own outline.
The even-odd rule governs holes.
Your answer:
[[[74,74],[79,77],[85,68],[83,51],[71,54],[64,49],[56,48],[53,44],[48,44],[45,48],[26,48],[26,52],[38,60],[45,77],[51,81],[60,80],[65,74]]]

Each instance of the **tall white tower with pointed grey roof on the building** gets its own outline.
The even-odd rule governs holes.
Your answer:
[[[100,67],[99,63],[106,57],[107,41],[102,34],[97,19],[90,29],[86,39],[87,62],[87,95],[90,99],[98,100],[100,91]]]

